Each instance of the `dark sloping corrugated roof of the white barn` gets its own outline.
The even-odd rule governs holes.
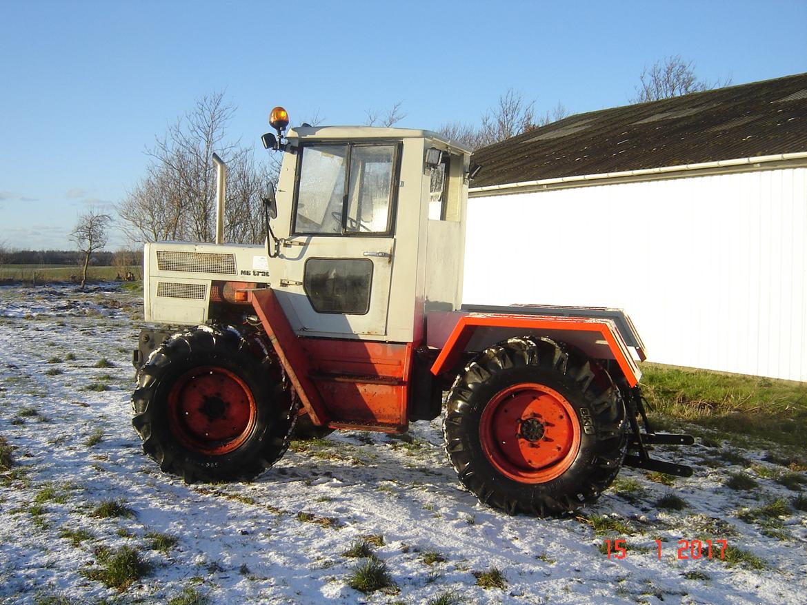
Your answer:
[[[807,152],[807,73],[572,115],[478,149],[473,187]]]

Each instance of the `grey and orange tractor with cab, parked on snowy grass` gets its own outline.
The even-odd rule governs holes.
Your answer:
[[[282,153],[256,217],[265,244],[224,244],[214,155],[215,243],[145,245],[132,424],[165,473],[249,481],[293,435],[401,434],[445,414],[459,481],[510,514],[575,511],[622,465],[692,474],[648,453],[692,437],[651,430],[623,311],[462,304],[469,149],[288,123],[276,107],[262,137]]]

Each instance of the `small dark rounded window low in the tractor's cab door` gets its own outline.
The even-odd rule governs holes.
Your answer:
[[[364,315],[370,310],[373,261],[368,258],[309,258],[303,290],[317,313]]]

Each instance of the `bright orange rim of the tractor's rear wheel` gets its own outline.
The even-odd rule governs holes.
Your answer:
[[[491,398],[479,419],[487,460],[521,483],[558,478],[580,449],[580,423],[562,394],[537,382],[508,386]]]

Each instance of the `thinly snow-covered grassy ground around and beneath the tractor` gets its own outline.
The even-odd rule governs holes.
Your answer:
[[[671,486],[623,469],[570,519],[479,505],[439,419],[407,440],[295,442],[249,484],[165,476],[130,423],[140,314],[123,290],[0,288],[0,437],[17,462],[0,474],[0,603],[807,603],[807,513],[765,449],[698,444],[682,451],[695,475]],[[756,486],[725,486],[739,471]],[[656,507],[670,493],[683,510]],[[738,517],[775,499],[783,515]],[[132,512],[98,516],[111,500]],[[362,536],[395,586],[348,586],[362,560],[343,553]],[[604,540],[621,538],[627,556],[608,559]],[[678,540],[709,538],[712,560],[676,557]],[[716,540],[746,562],[721,561]],[[152,569],[123,590],[90,578],[124,546]],[[477,585],[492,567],[504,588]]]

